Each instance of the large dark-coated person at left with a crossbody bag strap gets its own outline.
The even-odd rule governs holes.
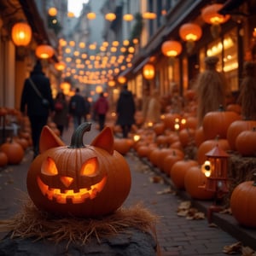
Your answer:
[[[38,96],[32,83],[36,86],[41,96],[49,102],[48,106],[42,103],[42,98]],[[26,79],[24,82],[20,100],[20,111],[28,116],[31,124],[34,157],[39,154],[39,138],[41,131],[44,125],[47,124],[49,115],[54,113],[54,109],[49,79],[45,76],[42,64],[38,60],[30,73],[30,78]]]

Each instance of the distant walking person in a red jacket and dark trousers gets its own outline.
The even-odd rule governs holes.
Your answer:
[[[100,125],[100,131],[103,130],[106,122],[106,114],[108,113],[108,100],[104,96],[103,92],[100,94],[99,98],[96,100],[94,105],[96,115],[98,117],[98,122]]]

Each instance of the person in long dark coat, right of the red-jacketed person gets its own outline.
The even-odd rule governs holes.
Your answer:
[[[117,125],[120,125],[123,132],[123,137],[128,137],[129,132],[131,131],[131,125],[135,123],[136,107],[134,98],[131,94],[131,91],[127,89],[125,84],[123,90],[120,92],[119,99],[117,102]]]

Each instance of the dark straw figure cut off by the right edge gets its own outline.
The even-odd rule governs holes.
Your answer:
[[[244,63],[244,79],[241,81],[241,92],[237,102],[241,104],[241,115],[245,119],[256,119],[256,63]]]

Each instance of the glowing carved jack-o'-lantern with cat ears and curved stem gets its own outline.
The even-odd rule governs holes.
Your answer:
[[[40,154],[27,173],[28,194],[39,209],[56,215],[96,217],[114,212],[131,189],[125,158],[113,150],[113,133],[106,127],[90,145],[83,144],[84,123],[70,146],[44,126]]]

